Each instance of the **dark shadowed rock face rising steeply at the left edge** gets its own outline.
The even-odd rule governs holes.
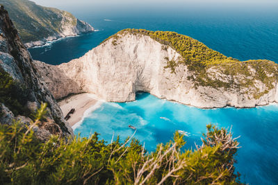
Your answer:
[[[0,98],[0,123],[10,124],[13,119],[20,119],[29,124],[31,113],[44,102],[48,104],[47,121],[35,127],[38,137],[46,140],[51,134],[73,135],[72,128],[64,120],[60,107],[35,69],[30,54],[3,6],[0,9],[0,73],[8,79],[7,85],[1,82],[3,86],[0,91],[9,98]],[[11,82],[12,91],[5,92]],[[17,94],[17,91],[21,94]],[[19,111],[14,106],[15,103],[18,104],[17,107],[23,107],[23,111]],[[13,109],[13,112],[8,107]]]

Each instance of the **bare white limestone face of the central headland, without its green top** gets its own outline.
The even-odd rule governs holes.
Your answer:
[[[165,49],[166,48],[166,49]],[[174,100],[201,108],[213,107],[255,107],[278,102],[277,80],[275,88],[254,98],[254,91],[265,92],[263,82],[257,80],[255,87],[215,88],[194,86],[190,76],[194,74],[184,64],[172,73],[167,60],[179,60],[181,55],[170,46],[156,42],[146,35],[126,33],[117,39],[108,39],[86,53],[83,57],[51,66],[35,62],[47,86],[55,98],[67,94],[88,92],[107,101],[126,102],[136,98],[137,91],[146,91],[158,98]],[[256,70],[250,68],[252,76]],[[219,69],[208,69],[209,78],[235,82],[243,76],[226,76]]]

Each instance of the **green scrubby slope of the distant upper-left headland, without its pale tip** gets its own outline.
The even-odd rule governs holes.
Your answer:
[[[23,42],[38,41],[60,33],[62,15],[72,19],[68,24],[76,26],[76,18],[70,12],[38,6],[28,0],[2,0],[1,3],[8,10]]]

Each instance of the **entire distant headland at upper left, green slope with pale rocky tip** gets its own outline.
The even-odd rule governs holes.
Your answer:
[[[2,0],[0,3],[8,10],[27,47],[94,30],[90,24],[76,19],[70,12],[38,6],[33,1]]]

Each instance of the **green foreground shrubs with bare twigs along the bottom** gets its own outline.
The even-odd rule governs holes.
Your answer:
[[[41,143],[32,127],[44,120],[45,107],[28,127],[0,125],[0,184],[239,183],[234,174],[238,142],[223,128],[208,125],[196,150],[182,149],[185,141],[178,132],[152,153],[132,136],[124,143],[117,137],[107,144],[97,133],[70,143],[57,136]]]

